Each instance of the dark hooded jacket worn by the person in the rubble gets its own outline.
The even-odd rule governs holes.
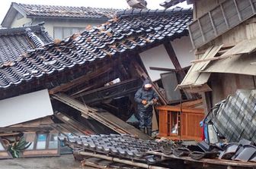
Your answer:
[[[144,108],[144,105],[142,104],[142,100],[146,100],[147,102],[152,101],[152,99],[158,100],[158,95],[156,94],[154,89],[146,90],[144,88],[144,86],[149,83],[150,83],[149,80],[145,80],[142,88],[140,88],[134,96],[135,102],[138,103],[139,111],[151,111],[152,110],[152,106],[149,106],[149,108]]]

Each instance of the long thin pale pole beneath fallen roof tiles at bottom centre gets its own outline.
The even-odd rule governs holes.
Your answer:
[[[91,156],[94,158],[101,158],[107,161],[114,161],[114,162],[119,162],[123,164],[128,164],[128,165],[133,165],[135,167],[143,167],[143,168],[148,168],[148,169],[167,169],[166,167],[157,167],[149,164],[144,164],[140,162],[134,162],[134,161],[129,161],[129,160],[124,160],[120,158],[114,158],[106,155],[99,155],[99,154],[94,154],[92,152],[77,152],[78,155],[85,155],[85,156]]]

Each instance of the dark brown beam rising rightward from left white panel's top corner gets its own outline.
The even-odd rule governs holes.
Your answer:
[[[56,92],[66,92],[69,89],[72,89],[75,86],[78,86],[78,85],[80,85],[82,83],[85,83],[86,81],[88,81],[90,79],[93,79],[93,78],[98,77],[98,76],[100,76],[102,74],[106,74],[106,73],[110,72],[110,70],[113,70],[112,67],[114,65],[115,64],[107,64],[104,67],[101,67],[100,69],[95,70],[95,71],[93,71],[90,74],[85,74],[82,77],[78,77],[78,78],[76,78],[75,80],[72,80],[69,83],[65,83],[65,84],[62,84],[60,86],[56,86],[53,89],[50,89],[49,93],[50,94],[54,94]]]

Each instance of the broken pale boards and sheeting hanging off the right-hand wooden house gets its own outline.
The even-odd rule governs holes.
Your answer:
[[[222,45],[210,47],[202,58],[192,61],[193,65],[179,87],[186,89],[187,92],[211,91],[206,84],[211,73],[255,76],[255,41],[256,39],[247,39],[239,42],[231,49],[222,49]],[[223,51],[224,53],[219,55]]]

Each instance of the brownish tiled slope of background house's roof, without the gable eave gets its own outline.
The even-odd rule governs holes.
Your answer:
[[[110,18],[120,9],[17,4],[27,17]]]

